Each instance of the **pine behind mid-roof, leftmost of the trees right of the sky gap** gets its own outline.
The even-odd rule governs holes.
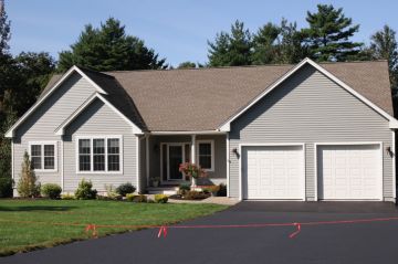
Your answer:
[[[210,66],[250,65],[252,53],[251,33],[237,20],[231,33],[217,33],[214,42],[208,41]]]

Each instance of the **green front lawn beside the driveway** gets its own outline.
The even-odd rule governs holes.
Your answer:
[[[0,256],[90,239],[91,235],[84,231],[87,224],[171,224],[212,214],[226,208],[217,204],[96,200],[0,200]],[[98,236],[133,230],[136,229],[100,228]]]

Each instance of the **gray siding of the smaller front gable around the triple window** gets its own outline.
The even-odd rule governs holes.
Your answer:
[[[122,136],[123,137],[123,171],[122,173],[78,173],[76,172],[76,137],[77,136]],[[94,101],[66,128],[64,136],[64,191],[73,192],[84,178],[92,180],[100,192],[105,191],[105,184],[114,188],[132,182],[137,187],[137,137],[128,125],[102,101]]]

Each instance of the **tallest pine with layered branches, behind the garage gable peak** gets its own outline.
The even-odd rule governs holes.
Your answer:
[[[343,9],[335,9],[332,4],[318,4],[317,12],[307,11],[308,29],[303,29],[304,44],[310,55],[316,61],[347,61],[355,59],[363,43],[352,42],[349,38],[359,30],[346,18]]]

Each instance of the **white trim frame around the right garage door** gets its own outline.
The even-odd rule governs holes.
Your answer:
[[[384,190],[384,168],[383,168],[383,159],[384,159],[384,155],[383,155],[383,142],[381,141],[344,141],[344,142],[314,142],[314,183],[315,183],[315,197],[314,200],[318,201],[320,200],[320,196],[318,196],[318,171],[317,171],[317,147],[318,146],[369,146],[369,145],[378,145],[380,148],[380,160],[379,160],[379,166],[380,166],[380,173],[381,173],[381,183],[380,183],[380,189],[379,190],[379,199],[383,201],[383,190]],[[327,199],[327,201],[344,201],[347,199]],[[357,199],[357,200],[375,200],[375,199]],[[347,200],[348,201],[348,200]],[[355,201],[355,199],[349,200],[349,201]]]

